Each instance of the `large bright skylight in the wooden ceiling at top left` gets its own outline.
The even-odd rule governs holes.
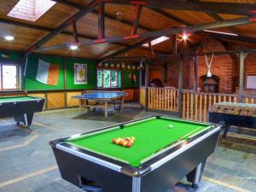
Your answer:
[[[9,12],[9,17],[36,21],[47,12],[55,2],[50,0],[20,0]]]

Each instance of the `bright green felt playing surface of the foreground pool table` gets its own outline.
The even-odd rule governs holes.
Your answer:
[[[210,127],[210,124],[154,117],[124,125],[123,129],[116,126],[108,131],[98,131],[82,137],[70,138],[66,142],[137,167],[143,160],[161,149],[179,140],[186,141],[189,136]],[[135,137],[136,141],[131,148],[125,148],[112,143],[112,139],[118,137]]]

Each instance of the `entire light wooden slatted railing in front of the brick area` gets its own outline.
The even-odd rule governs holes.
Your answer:
[[[145,88],[140,89],[140,102],[145,106]],[[148,109],[177,112],[177,89],[148,88]],[[235,94],[218,94],[182,91],[182,116],[184,119],[192,119],[207,122],[210,106],[218,102],[238,102]],[[256,96],[243,96],[244,103],[256,104]]]

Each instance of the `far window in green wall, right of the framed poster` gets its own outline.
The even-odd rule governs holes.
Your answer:
[[[119,87],[119,70],[98,69],[97,86],[102,88]]]

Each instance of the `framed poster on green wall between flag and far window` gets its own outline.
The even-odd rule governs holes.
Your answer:
[[[74,84],[87,84],[87,64],[74,63]]]

